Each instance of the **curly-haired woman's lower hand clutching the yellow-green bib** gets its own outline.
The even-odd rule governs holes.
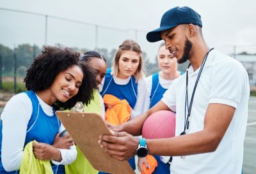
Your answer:
[[[62,160],[60,150],[47,143],[33,142],[33,153],[35,157],[40,160],[53,159],[59,162]]]

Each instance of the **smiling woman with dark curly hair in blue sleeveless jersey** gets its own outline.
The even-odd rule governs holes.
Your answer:
[[[72,163],[77,151],[69,134],[59,137],[65,128],[55,111],[89,103],[96,86],[93,69],[69,48],[45,47],[24,82],[28,91],[13,96],[1,115],[0,173],[16,173],[24,147],[33,140],[35,157],[56,164],[54,173],[65,173],[59,164]]]

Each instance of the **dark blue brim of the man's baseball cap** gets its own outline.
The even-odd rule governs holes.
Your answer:
[[[155,29],[153,31],[150,31],[147,34],[147,40],[149,42],[161,41],[162,40],[162,38],[161,38],[162,31],[172,29],[173,27],[176,27],[177,25],[179,25],[179,24],[167,25],[167,26],[159,27],[158,29]]]

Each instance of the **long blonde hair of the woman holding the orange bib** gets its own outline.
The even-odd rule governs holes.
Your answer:
[[[116,51],[115,57],[113,58],[113,61],[112,61],[112,73],[113,73],[113,76],[117,76],[119,59],[124,51],[129,51],[129,50],[136,52],[138,55],[140,55],[139,66],[138,66],[136,72],[134,73],[136,82],[138,82],[141,78],[144,77],[144,67],[143,67],[141,48],[140,48],[140,45],[136,41],[125,40],[119,46],[118,50]]]

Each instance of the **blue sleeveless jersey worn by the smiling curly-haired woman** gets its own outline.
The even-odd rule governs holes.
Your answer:
[[[26,92],[26,94],[28,95],[29,99],[31,99],[33,111],[28,123],[24,147],[26,146],[27,143],[33,140],[36,140],[40,143],[47,143],[49,145],[52,145],[54,138],[60,129],[60,120],[58,120],[57,116],[55,115],[55,112],[52,117],[49,117],[44,113],[44,111],[42,110],[42,107],[40,106],[38,98],[36,97],[35,92],[28,91]],[[3,136],[2,128],[3,128],[3,124],[2,124],[2,120],[0,120],[0,130],[1,130],[0,132],[0,142],[1,142],[0,143],[0,173],[1,174],[19,173],[19,171],[7,172],[3,168],[2,160],[1,160],[2,136]],[[60,166],[56,165],[54,166],[54,168],[60,168]],[[64,166],[63,166],[63,169],[64,169]]]

